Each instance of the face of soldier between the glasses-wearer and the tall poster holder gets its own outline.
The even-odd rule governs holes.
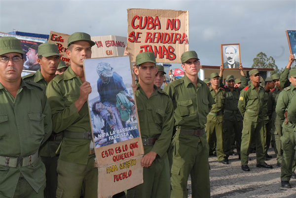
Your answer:
[[[38,58],[41,72],[48,75],[55,75],[60,61],[60,56],[42,57],[41,59]]]

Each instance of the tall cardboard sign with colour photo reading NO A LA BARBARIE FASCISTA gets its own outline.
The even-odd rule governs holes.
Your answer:
[[[99,169],[98,198],[143,183],[144,154],[129,56],[83,60],[92,87],[88,107]]]

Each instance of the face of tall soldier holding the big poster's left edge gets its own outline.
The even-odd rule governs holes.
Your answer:
[[[83,67],[83,59],[91,58],[91,46],[86,41],[76,41],[67,50],[67,55],[71,59],[71,64]]]

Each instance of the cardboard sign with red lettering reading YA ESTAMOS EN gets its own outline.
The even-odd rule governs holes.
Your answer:
[[[123,56],[124,48],[126,46],[126,37],[119,36],[98,36],[91,37],[96,44],[92,46],[91,57],[111,57],[111,56]]]

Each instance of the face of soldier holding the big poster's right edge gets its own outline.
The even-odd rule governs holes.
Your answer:
[[[138,75],[139,82],[150,85],[154,83],[157,68],[154,63],[146,62],[134,68],[134,72]]]

